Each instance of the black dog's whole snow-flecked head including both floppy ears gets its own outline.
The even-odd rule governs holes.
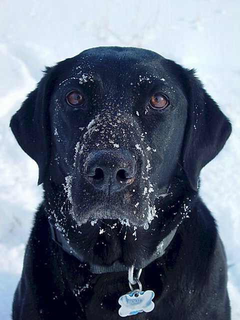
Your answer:
[[[162,220],[159,199],[176,178],[179,189],[181,182],[197,189],[200,169],[230,133],[192,71],[118,47],[89,49],[48,69],[11,127],[38,163],[39,182],[67,197],[78,226],[112,220],[142,232]],[[59,220],[62,206],[49,202]]]

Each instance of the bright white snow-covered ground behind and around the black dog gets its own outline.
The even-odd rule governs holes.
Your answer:
[[[45,65],[98,45],[140,46],[195,67],[231,119],[225,148],[202,170],[201,195],[219,225],[232,319],[240,319],[239,16],[239,0],[0,0],[0,320],[10,319],[42,192],[36,164],[8,128],[10,116]]]

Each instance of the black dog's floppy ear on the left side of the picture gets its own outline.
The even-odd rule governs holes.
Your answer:
[[[47,68],[36,89],[29,93],[10,121],[17,142],[38,164],[38,184],[43,182],[50,157],[48,120],[50,73],[51,68]]]

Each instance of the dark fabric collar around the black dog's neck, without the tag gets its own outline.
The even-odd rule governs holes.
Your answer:
[[[70,255],[76,257],[80,262],[84,263],[83,255],[80,254],[78,251],[74,250],[71,247],[70,242],[62,235],[62,233],[56,228],[52,219],[49,220],[50,228],[51,228],[51,237],[52,240],[55,241],[65,252]],[[142,259],[141,263],[135,264],[135,269],[142,269],[150,264],[155,259],[161,257],[164,254],[165,249],[173,239],[173,236],[176,233],[177,227],[175,227],[160,243],[157,245],[156,250],[153,254],[147,258]],[[88,269],[92,273],[105,273],[105,272],[119,272],[119,271],[127,271],[129,267],[125,266],[124,264],[120,263],[119,261],[115,261],[111,265],[99,265],[95,263],[89,263]]]

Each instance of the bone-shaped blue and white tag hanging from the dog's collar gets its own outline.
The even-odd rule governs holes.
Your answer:
[[[134,315],[139,312],[150,312],[154,308],[152,299],[154,292],[151,290],[140,291],[135,289],[130,291],[118,299],[120,308],[118,314],[120,316]]]

